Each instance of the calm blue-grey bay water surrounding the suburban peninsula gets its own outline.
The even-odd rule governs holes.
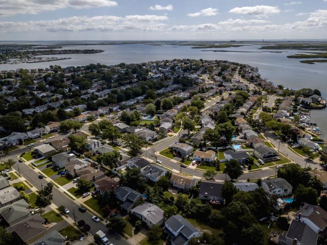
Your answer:
[[[101,63],[114,65],[119,63],[139,63],[175,58],[228,60],[258,67],[264,78],[268,78],[277,84],[284,84],[285,87],[299,89],[319,89],[322,96],[327,98],[327,63],[302,64],[298,59],[288,59],[286,56],[298,53],[296,50],[281,50],[282,53],[272,53],[267,50],[258,50],[259,45],[248,45],[238,48],[224,48],[233,52],[210,52],[201,49],[192,49],[190,46],[172,45],[88,45],[88,46],[66,46],[65,49],[102,49],[105,52],[99,54],[69,54],[50,55],[51,57],[71,57],[69,60],[30,63],[30,64],[2,64],[0,70],[15,70],[18,68],[46,68],[50,65],[82,66],[90,63]],[[209,50],[209,49],[207,49]],[[236,51],[236,52],[235,52]],[[314,110],[311,118],[317,122],[318,127],[327,132],[327,109]],[[324,136],[327,139],[326,136]]]

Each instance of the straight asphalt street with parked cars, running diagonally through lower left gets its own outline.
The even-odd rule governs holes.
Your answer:
[[[40,180],[38,178],[38,174],[33,171],[29,166],[27,166],[24,163],[16,163],[13,167],[18,171],[18,165],[20,169],[21,175],[26,178],[28,182],[30,182],[33,186],[35,186],[38,190],[41,189],[41,184],[46,185],[48,182],[44,179]],[[53,187],[53,199],[52,202],[57,205],[63,205],[66,208],[70,210],[70,213],[68,214],[72,219],[74,218],[73,216],[73,210],[75,212],[75,217],[76,221],[80,219],[84,219],[88,224],[91,226],[90,233],[94,235],[98,230],[102,230],[103,232],[107,233],[107,237],[110,240],[110,242],[114,243],[115,245],[130,245],[128,241],[126,241],[124,238],[119,236],[118,234],[114,232],[108,231],[108,228],[106,225],[102,222],[94,222],[92,220],[92,214],[89,212],[81,213],[78,211],[78,205],[72,201],[70,198],[68,198],[65,194],[60,192],[56,187]]]

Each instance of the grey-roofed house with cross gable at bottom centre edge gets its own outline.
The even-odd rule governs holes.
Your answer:
[[[172,237],[172,245],[186,245],[192,237],[201,235],[182,215],[173,215],[165,222],[165,231]]]

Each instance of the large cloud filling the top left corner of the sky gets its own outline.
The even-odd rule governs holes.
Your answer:
[[[111,0],[1,0],[0,17],[13,15],[38,14],[64,8],[90,9],[97,7],[115,7]]]

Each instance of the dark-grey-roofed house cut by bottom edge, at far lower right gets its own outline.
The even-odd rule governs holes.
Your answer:
[[[288,231],[278,237],[279,245],[315,245],[318,234],[307,224],[297,220],[292,220]]]

